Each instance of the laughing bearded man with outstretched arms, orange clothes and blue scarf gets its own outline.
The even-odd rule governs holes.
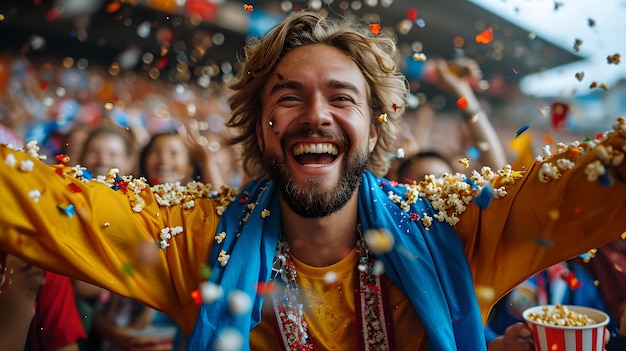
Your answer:
[[[229,125],[253,181],[237,197],[112,175],[113,192],[2,149],[0,248],[164,311],[191,350],[485,349],[493,298],[624,231],[626,121],[525,174],[393,187],[377,176],[408,92],[394,56],[310,12],[248,47]],[[592,177],[604,164],[610,187]],[[162,251],[137,258],[146,241]]]

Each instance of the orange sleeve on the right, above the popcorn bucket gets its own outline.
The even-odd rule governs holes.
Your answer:
[[[484,318],[492,303],[534,273],[625,232],[626,120],[614,129],[599,140],[558,146],[514,182],[500,174],[494,189],[510,182],[501,188],[507,194],[463,213],[456,229]],[[596,177],[602,169],[606,174]],[[478,288],[493,298],[481,299]]]

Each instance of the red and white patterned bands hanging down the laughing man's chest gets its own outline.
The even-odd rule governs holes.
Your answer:
[[[358,350],[393,350],[392,318],[386,298],[386,277],[373,273],[374,258],[357,227],[359,238],[355,274],[355,308],[357,313]],[[304,317],[304,305],[298,301],[296,267],[289,255],[289,244],[281,236],[276,246],[272,267],[272,280],[285,284],[282,294],[273,296],[274,328],[282,351],[315,351],[313,340]]]

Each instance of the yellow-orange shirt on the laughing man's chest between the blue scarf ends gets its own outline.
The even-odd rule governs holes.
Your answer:
[[[292,256],[297,270],[296,284],[304,294],[304,313],[315,350],[353,350],[356,345],[354,274],[357,255],[353,251],[341,261],[327,267],[312,267]],[[328,284],[327,273],[340,279]],[[415,309],[389,280],[389,308],[398,350],[427,350],[426,331]],[[251,349],[279,350],[272,323],[274,313],[270,299],[263,304],[261,323],[250,334]]]

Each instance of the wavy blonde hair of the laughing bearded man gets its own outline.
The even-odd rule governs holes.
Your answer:
[[[227,122],[238,131],[231,141],[242,146],[244,171],[255,179],[268,176],[256,134],[268,77],[285,53],[315,43],[342,50],[365,76],[370,89],[371,123],[380,124],[368,169],[376,176],[384,176],[390,155],[395,152],[397,124],[409,93],[406,78],[398,71],[396,43],[383,34],[373,35],[369,27],[309,11],[291,14],[258,42],[244,48],[243,67],[230,86],[231,117]],[[387,122],[378,122],[382,114],[387,115]]]

